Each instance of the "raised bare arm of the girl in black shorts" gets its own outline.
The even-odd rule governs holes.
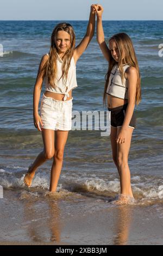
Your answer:
[[[108,60],[109,62],[109,48],[105,42],[103,23],[102,23],[103,7],[102,5],[96,4],[94,8],[96,9],[96,16],[97,16],[97,41],[105,59]]]

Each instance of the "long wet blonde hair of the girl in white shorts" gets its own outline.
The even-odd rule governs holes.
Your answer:
[[[49,51],[49,58],[45,65],[43,65],[43,76],[47,76],[48,83],[54,88],[55,78],[57,77],[57,58],[58,52],[55,45],[55,36],[57,36],[58,31],[65,31],[70,35],[70,47],[64,53],[63,64],[62,64],[62,78],[65,82],[67,81],[68,70],[70,68],[71,59],[73,57],[73,51],[75,47],[75,34],[72,26],[69,23],[59,23],[52,32],[51,35],[51,49]],[[65,58],[66,57],[66,58]]]

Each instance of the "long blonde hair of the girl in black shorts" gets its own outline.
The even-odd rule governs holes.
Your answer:
[[[103,95],[103,103],[106,103],[106,89],[109,83],[109,77],[111,74],[111,70],[115,64],[118,64],[120,69],[120,74],[122,77],[122,81],[124,81],[124,71],[123,65],[134,66],[137,71],[137,87],[136,87],[136,97],[135,102],[138,105],[141,101],[141,85],[140,85],[140,71],[139,71],[139,64],[137,62],[133,42],[131,41],[130,37],[126,33],[118,33],[109,39],[109,42],[114,40],[117,44],[117,48],[120,54],[120,58],[118,63],[112,58],[111,51],[109,50],[109,68],[108,72],[105,75],[105,88],[104,88],[104,95]]]

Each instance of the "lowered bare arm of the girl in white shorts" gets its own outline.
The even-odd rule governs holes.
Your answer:
[[[48,60],[48,56],[44,55],[41,59],[39,71],[37,74],[34,91],[33,91],[33,118],[34,118],[34,126],[37,128],[37,130],[41,131],[40,123],[42,125],[41,117],[39,115],[39,100],[40,100],[40,94],[42,89],[42,83],[43,83],[43,65]]]

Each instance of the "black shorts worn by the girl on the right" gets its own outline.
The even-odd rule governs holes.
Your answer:
[[[119,107],[108,108],[108,110],[111,111],[111,126],[121,127],[123,125],[127,106],[128,106],[128,103]],[[136,118],[135,118],[135,114],[133,113],[129,123],[129,127],[134,129],[135,126],[136,126]]]

